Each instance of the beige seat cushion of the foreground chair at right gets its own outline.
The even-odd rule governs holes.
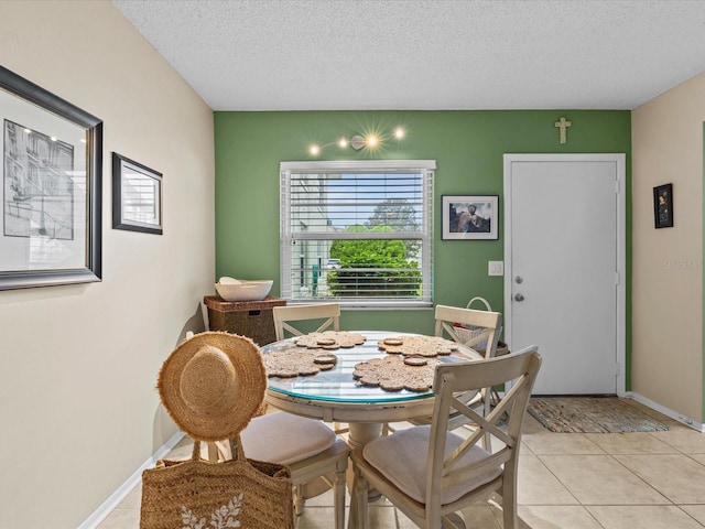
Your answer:
[[[401,430],[367,444],[362,455],[400,490],[416,501],[425,504],[430,434],[431,425],[426,424]],[[448,433],[444,457],[447,457],[462,442],[463,438]],[[458,465],[467,465],[488,455],[487,451],[476,445],[463,456]],[[501,467],[495,467],[475,479],[446,488],[441,495],[441,504],[455,501],[474,488],[491,482],[501,475]]]

